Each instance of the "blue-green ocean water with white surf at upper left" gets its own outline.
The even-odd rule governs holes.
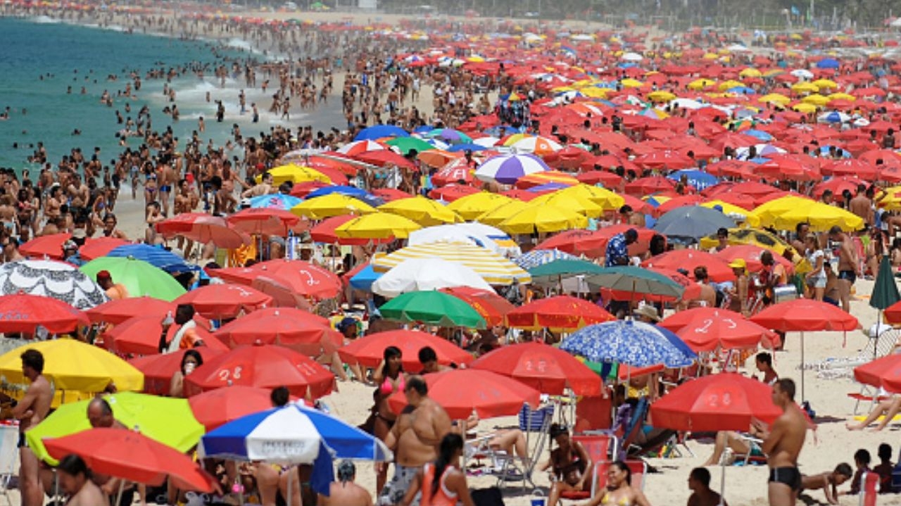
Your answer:
[[[226,79],[224,86],[212,77],[211,70],[203,79],[194,74],[178,77],[170,84],[176,89],[176,104],[181,113],[180,121],[172,122],[162,109],[170,105],[162,95],[164,80],[145,79],[150,68],[165,68],[187,65],[191,62],[222,62],[212,50],[213,42],[178,41],[166,37],[125,33],[121,29],[99,29],[57,23],[48,18],[14,19],[0,18],[0,113],[9,107],[9,118],[0,120],[0,167],[17,170],[37,166],[27,158],[44,143],[51,162],[59,161],[73,148],[80,148],[89,158],[96,147],[101,149],[101,161],[110,161],[123,149],[118,144],[115,133],[123,129],[116,121],[118,110],[123,117],[137,117],[141,106],[148,104],[153,129],[162,131],[171,125],[176,136],[190,137],[197,130],[198,118],[205,118],[206,131],[201,134],[205,141],[214,140],[221,145],[232,131],[232,124],[238,123],[245,135],[257,135],[268,131],[275,124],[296,128],[298,125],[312,124],[315,129],[332,126],[342,128],[340,100],[330,100],[328,106],[319,111],[299,113],[292,111],[290,121],[281,121],[270,116],[267,111],[271,104],[273,90],[263,95],[259,89],[245,90],[248,111],[241,114],[238,94],[243,85],[243,77]],[[250,51],[246,41],[232,40],[215,42],[219,46],[219,58],[262,59]],[[137,98],[117,97],[116,91],[123,90],[131,71],[141,75],[141,91]],[[116,81],[108,76],[119,77]],[[236,76],[237,77],[237,76]],[[259,78],[261,83],[263,79]],[[336,83],[337,85],[337,83]],[[67,93],[71,86],[71,93]],[[82,86],[86,93],[81,94]],[[104,91],[114,97],[114,104],[108,107],[100,103]],[[210,101],[206,101],[209,93]],[[215,122],[215,100],[225,105],[225,119]],[[260,112],[260,122],[251,123],[250,103],[256,102]],[[125,112],[125,104],[131,105],[131,113]],[[75,130],[80,135],[73,135]],[[137,148],[140,138],[130,138],[128,145]],[[179,144],[180,148],[184,143]],[[239,151],[232,153],[240,155]]]

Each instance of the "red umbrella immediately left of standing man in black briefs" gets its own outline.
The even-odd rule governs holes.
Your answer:
[[[754,419],[771,423],[781,414],[772,387],[735,373],[687,381],[651,404],[655,427],[693,432],[747,430]]]

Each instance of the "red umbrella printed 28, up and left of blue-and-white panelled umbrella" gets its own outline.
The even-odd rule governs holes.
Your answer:
[[[239,346],[211,358],[185,378],[185,394],[232,385],[273,389],[286,386],[297,397],[311,399],[334,389],[334,376],[312,358],[294,350],[264,344]]]

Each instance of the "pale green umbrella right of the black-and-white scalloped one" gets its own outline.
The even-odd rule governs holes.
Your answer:
[[[132,257],[96,258],[78,270],[91,279],[95,279],[100,271],[109,271],[113,283],[125,285],[132,297],[147,295],[170,303],[186,292],[166,271]]]

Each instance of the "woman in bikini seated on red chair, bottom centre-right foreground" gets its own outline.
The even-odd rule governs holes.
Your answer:
[[[551,460],[542,465],[542,471],[551,468],[553,484],[548,494],[548,505],[557,506],[561,492],[591,490],[594,468],[585,447],[570,439],[565,427],[554,423],[550,432],[551,440],[557,442],[557,447],[551,450]]]

